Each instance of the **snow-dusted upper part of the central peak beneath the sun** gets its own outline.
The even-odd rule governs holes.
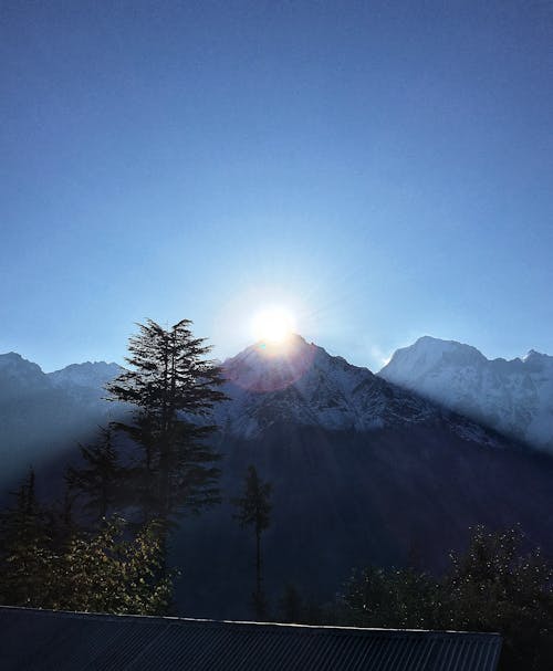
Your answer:
[[[493,437],[465,418],[298,335],[285,346],[257,343],[222,368],[230,400],[215,409],[215,419],[236,436],[255,438],[282,422],[342,431],[447,422],[465,439],[494,443]]]

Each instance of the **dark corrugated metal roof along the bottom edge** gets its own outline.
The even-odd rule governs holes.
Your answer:
[[[494,671],[495,633],[0,607],[3,671]]]

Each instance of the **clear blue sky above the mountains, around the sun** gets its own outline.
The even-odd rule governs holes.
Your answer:
[[[0,3],[0,352],[553,353],[553,2]]]

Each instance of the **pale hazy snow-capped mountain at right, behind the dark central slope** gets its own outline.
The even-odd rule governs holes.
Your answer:
[[[487,359],[476,347],[425,336],[379,377],[517,440],[553,450],[553,357]]]

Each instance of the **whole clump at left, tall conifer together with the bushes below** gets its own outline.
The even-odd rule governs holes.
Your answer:
[[[197,420],[223,398],[221,377],[189,325],[139,325],[129,344],[132,369],[108,386],[114,400],[137,407],[133,421],[102,429],[96,443],[81,447],[81,463],[66,471],[63,503],[39,504],[33,472],[21,484],[0,516],[2,604],[167,610],[170,517],[219,500],[218,455],[206,442],[215,427]],[[131,512],[132,525],[118,510]]]

